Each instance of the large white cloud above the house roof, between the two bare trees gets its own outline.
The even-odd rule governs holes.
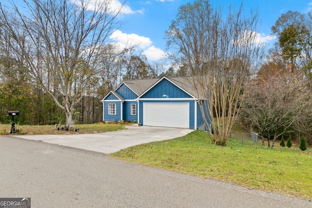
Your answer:
[[[158,60],[165,55],[164,51],[152,45],[153,42],[150,38],[138,36],[133,33],[122,33],[120,30],[116,30],[110,38],[114,40],[120,48],[137,46],[138,49],[143,50],[142,54],[152,61]]]

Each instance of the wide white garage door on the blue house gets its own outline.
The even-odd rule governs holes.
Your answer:
[[[189,105],[189,103],[143,103],[143,124],[189,128]]]

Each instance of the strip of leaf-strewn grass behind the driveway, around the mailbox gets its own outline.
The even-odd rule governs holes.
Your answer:
[[[80,134],[80,133],[100,133],[100,132],[112,132],[123,130],[126,125],[124,124],[75,124],[75,129],[79,129],[77,132],[56,130],[55,125],[15,125],[16,129],[19,129],[17,134]],[[62,125],[64,127],[64,125]],[[0,124],[0,134],[8,134],[11,129],[11,124]]]

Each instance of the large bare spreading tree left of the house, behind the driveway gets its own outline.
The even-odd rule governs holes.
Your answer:
[[[111,0],[24,0],[22,9],[15,2],[0,3],[1,28],[11,34],[1,41],[24,57],[22,67],[65,113],[68,128],[75,104],[101,71],[99,57],[111,54],[121,8]]]

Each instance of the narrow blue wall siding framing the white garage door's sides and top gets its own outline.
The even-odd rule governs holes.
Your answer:
[[[170,101],[164,101],[164,100],[140,100],[139,101],[139,123],[141,123],[144,126],[143,121],[143,103],[144,102],[152,102],[152,103],[189,103],[190,105],[190,121],[189,121],[189,128],[195,129],[195,102],[194,100],[170,100]]]

